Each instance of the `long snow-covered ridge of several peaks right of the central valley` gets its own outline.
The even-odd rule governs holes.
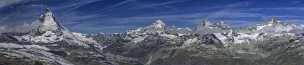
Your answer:
[[[169,26],[165,26],[161,20],[157,20],[150,26],[127,32],[126,38],[130,39],[132,42],[140,43],[146,40],[146,38],[149,36],[161,36],[167,37],[169,39],[181,39],[181,36],[183,34],[186,34],[185,36],[188,36],[188,38],[184,39],[183,41],[185,41],[187,45],[190,44],[190,41],[191,43],[197,43],[210,41],[210,39],[214,38],[213,42],[217,42],[214,44],[221,44],[224,47],[228,47],[235,44],[257,43],[265,39],[272,39],[275,37],[294,37],[298,33],[294,33],[293,31],[301,29],[303,29],[301,26],[281,23],[276,18],[272,18],[272,20],[266,24],[256,25],[254,27],[254,30],[248,29],[251,30],[249,32],[236,31],[230,28],[230,26],[227,24],[224,24],[223,21],[210,23],[209,21],[205,20],[196,26],[195,30],[193,30],[195,31],[194,33],[191,32],[192,30],[188,28],[170,28]],[[183,33],[181,31],[186,31],[186,33]],[[200,38],[199,36],[193,36],[197,33],[199,36],[203,37]],[[206,37],[207,40],[205,39]]]

